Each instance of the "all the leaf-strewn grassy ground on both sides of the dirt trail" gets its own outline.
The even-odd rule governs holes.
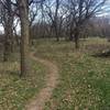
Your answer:
[[[38,40],[35,55],[59,68],[59,84],[45,105],[45,110],[110,110],[110,57],[99,56],[110,48],[105,38],[73,42]],[[32,61],[32,73],[19,78],[19,59],[0,62],[0,110],[24,110],[30,99],[45,86],[46,68]]]

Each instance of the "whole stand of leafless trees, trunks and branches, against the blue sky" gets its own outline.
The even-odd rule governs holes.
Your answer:
[[[4,29],[4,61],[21,47],[21,72],[28,73],[29,45],[36,37],[65,37],[75,41],[84,36],[106,35],[109,21],[98,18],[107,0],[0,0],[0,24]],[[100,22],[101,24],[100,24]],[[96,24],[97,23],[97,24]],[[18,25],[21,34],[18,35]],[[100,30],[99,30],[100,29]],[[88,31],[87,31],[88,30]],[[20,36],[21,35],[21,36]]]

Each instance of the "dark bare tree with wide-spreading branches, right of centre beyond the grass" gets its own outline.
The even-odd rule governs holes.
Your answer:
[[[76,48],[79,48],[79,36],[82,26],[101,10],[106,0],[68,0],[70,35],[75,38]]]

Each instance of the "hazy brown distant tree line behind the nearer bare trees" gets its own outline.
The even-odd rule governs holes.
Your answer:
[[[42,30],[41,30],[42,29]],[[55,32],[52,31],[52,25],[47,22],[34,23],[31,28],[31,36],[33,40],[36,38],[53,38]],[[91,18],[81,29],[80,38],[87,37],[108,37],[110,36],[110,18],[108,16],[94,16]],[[65,28],[62,29],[59,38],[72,41],[69,33]]]

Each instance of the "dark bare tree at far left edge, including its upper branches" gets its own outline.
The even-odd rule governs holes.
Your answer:
[[[7,62],[10,53],[13,52],[13,14],[11,0],[1,0],[1,21],[4,28],[4,54],[3,61]]]

